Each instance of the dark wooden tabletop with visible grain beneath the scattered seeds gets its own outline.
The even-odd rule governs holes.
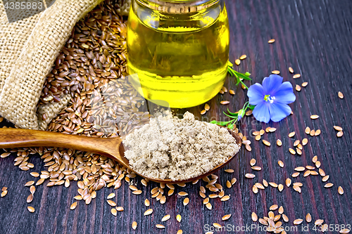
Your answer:
[[[237,183],[232,188],[225,188],[225,193],[231,198],[227,202],[219,199],[210,200],[213,210],[208,210],[202,204],[199,196],[199,186],[205,185],[199,181],[185,188],[177,187],[175,193],[185,191],[189,193],[190,202],[182,204],[183,198],[178,195],[167,197],[165,204],[151,199],[151,189],[158,186],[149,183],[142,186],[141,178],[137,178],[137,187],[141,188],[142,195],[132,195],[127,184],[118,190],[104,188],[97,192],[96,199],[89,205],[78,201],[77,208],[70,210],[73,197],[77,195],[77,188],[73,183],[69,188],[57,186],[55,188],[37,186],[34,200],[30,204],[36,209],[34,213],[27,211],[26,197],[30,191],[25,187],[27,181],[33,180],[30,171],[44,170],[44,162],[38,155],[30,158],[35,167],[30,171],[20,171],[13,166],[15,155],[0,159],[0,187],[8,187],[8,195],[0,197],[0,233],[206,233],[206,225],[220,223],[225,226],[240,228],[251,226],[251,212],[258,216],[267,216],[269,207],[278,204],[284,207],[284,214],[289,217],[285,227],[293,227],[294,219],[304,219],[309,212],[316,219],[324,219],[329,224],[327,233],[338,233],[339,226],[352,225],[352,1],[349,0],[228,0],[227,10],[231,27],[230,60],[234,61],[242,54],[246,60],[235,69],[240,72],[251,72],[253,82],[261,82],[272,70],[279,70],[284,81],[294,86],[308,82],[306,88],[296,92],[296,102],[291,104],[294,115],[278,123],[262,124],[252,117],[241,121],[240,129],[251,140],[252,151],[244,148],[239,152],[227,168],[234,169],[233,174],[220,170],[217,175],[225,186],[225,181],[232,177]],[[275,43],[268,44],[269,39]],[[295,73],[302,74],[301,78],[293,79],[289,73],[289,66]],[[246,91],[235,86],[234,79],[227,79],[227,89],[234,89],[235,96],[229,93],[215,96],[208,103],[210,111],[201,116],[202,106],[190,108],[189,111],[204,121],[212,117],[224,119],[222,111],[229,108],[236,111],[247,100]],[[337,96],[337,92],[344,93],[344,99]],[[221,100],[230,100],[230,105],[219,105]],[[185,110],[177,110],[183,113]],[[310,119],[310,115],[319,115],[318,119]],[[1,124],[11,126],[5,121]],[[344,129],[344,136],[337,138],[334,125]],[[272,143],[271,147],[257,142],[251,136],[252,131],[265,129],[267,126],[277,128],[275,133],[265,134],[264,138]],[[311,129],[321,129],[320,136],[307,136],[304,133],[306,126]],[[296,131],[294,138],[288,134]],[[308,138],[308,145],[304,146],[303,154],[291,155],[296,139]],[[276,139],[282,140],[282,147],[275,145]],[[303,183],[302,193],[293,188],[287,188],[280,193],[275,188],[266,188],[254,194],[252,186],[261,182],[263,178],[270,182],[282,183],[291,177],[294,168],[313,165],[312,158],[318,155],[322,163],[321,168],[329,174],[329,182],[334,183],[332,188],[324,188],[320,176],[292,178],[293,182]],[[249,161],[257,160],[262,171],[251,170]],[[284,162],[284,168],[278,166],[277,161]],[[256,178],[248,179],[246,173],[256,174]],[[37,178],[35,179],[37,181]],[[338,186],[344,188],[344,195],[337,193]],[[114,198],[118,206],[125,208],[118,212],[118,216],[111,214],[111,207],[106,202],[109,193],[115,193]],[[207,193],[208,194],[208,193]],[[151,200],[154,212],[144,216],[147,209],[144,200]],[[161,218],[170,214],[171,219],[165,223]],[[181,214],[179,223],[175,217]],[[225,214],[232,214],[227,221],[222,221]],[[132,230],[131,224],[137,221],[137,230]],[[159,230],[156,224],[162,223],[165,229]],[[258,222],[257,222],[258,224]],[[309,230],[302,230],[306,226],[303,221],[298,230],[287,233],[318,233],[313,230],[313,223]],[[228,227],[228,226],[227,226]],[[340,226],[341,227],[341,226]],[[337,229],[335,229],[337,228]],[[233,230],[231,228],[231,230]],[[264,231],[240,230],[219,231],[215,233],[265,233]]]

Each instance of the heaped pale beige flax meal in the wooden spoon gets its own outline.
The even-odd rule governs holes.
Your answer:
[[[210,171],[239,151],[239,144],[225,128],[195,120],[189,112],[183,119],[164,114],[123,141],[125,157],[143,176],[187,180]]]

